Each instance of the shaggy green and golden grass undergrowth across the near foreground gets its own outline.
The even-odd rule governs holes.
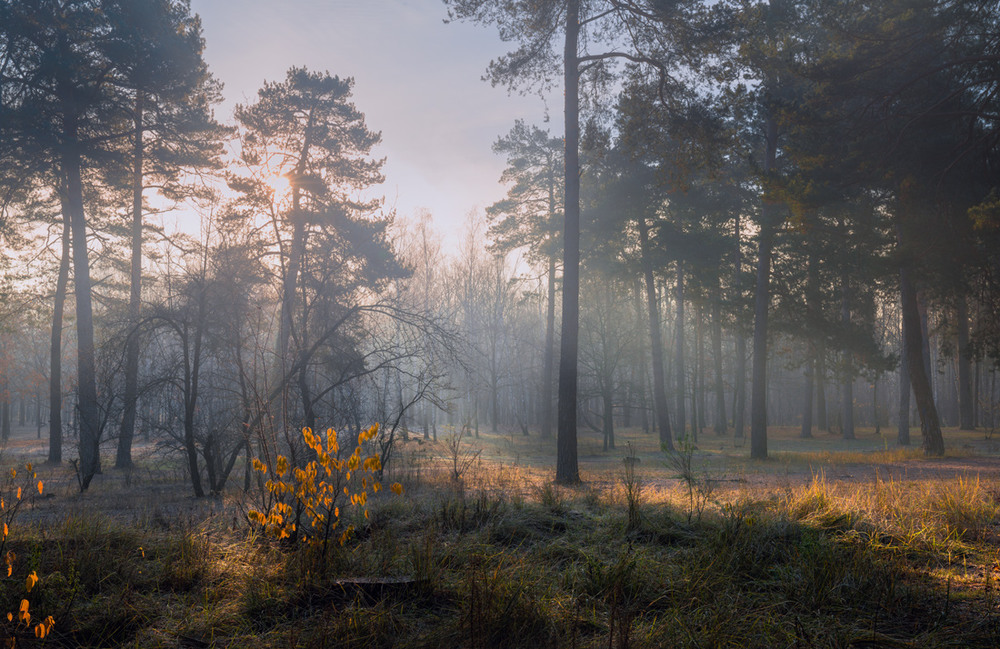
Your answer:
[[[465,477],[373,493],[321,574],[314,545],[222,516],[168,532],[80,515],[11,544],[41,577],[32,608],[53,612],[58,646],[1000,642],[997,491],[975,478],[848,487],[819,474],[692,517],[686,487],[676,505],[630,499],[627,476],[607,493],[526,495]]]

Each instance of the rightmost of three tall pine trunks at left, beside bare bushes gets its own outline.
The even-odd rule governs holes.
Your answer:
[[[125,339],[125,395],[122,424],[118,434],[115,467],[132,466],[132,439],[135,434],[135,407],[139,395],[139,324],[142,304],[142,93],[135,96],[135,125],[132,144],[132,268],[128,300],[129,330]]]

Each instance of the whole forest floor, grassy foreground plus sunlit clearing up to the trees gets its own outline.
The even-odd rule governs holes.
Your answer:
[[[890,435],[889,433],[892,433]],[[480,431],[398,447],[355,538],[315,549],[247,523],[235,487],[197,499],[176,450],[79,493],[73,466],[15,429],[0,636],[66,647],[996,647],[1000,439],[857,439],[771,428],[770,458],[704,432],[665,454],[581,432],[582,484],[552,484],[555,440]],[[451,442],[451,443],[449,443]],[[74,454],[72,445],[66,455]],[[105,461],[113,457],[107,449]],[[635,458],[635,459],[626,459]],[[456,472],[459,476],[454,475]],[[242,482],[242,473],[239,474]],[[12,505],[25,488],[20,509]],[[37,590],[25,576],[37,572]],[[31,600],[25,623],[17,602]],[[37,613],[36,613],[37,611]],[[3,610],[0,610],[2,613]],[[52,614],[42,640],[33,627]]]

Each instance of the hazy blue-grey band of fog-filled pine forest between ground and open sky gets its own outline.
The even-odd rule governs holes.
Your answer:
[[[335,70],[218,120],[186,2],[0,3],[4,439],[47,434],[81,489],[173,449],[201,496],[303,427],[378,422],[385,466],[551,437],[560,482],[623,428],[992,432],[995,3],[444,4],[512,43],[489,80],[566,101],[565,133],[498,134],[506,198],[455,250],[385,207]],[[201,231],[166,238],[179,208]]]

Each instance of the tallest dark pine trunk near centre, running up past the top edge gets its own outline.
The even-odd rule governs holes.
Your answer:
[[[580,481],[576,448],[577,353],[580,331],[580,0],[566,3],[566,191],[563,218],[563,309],[559,356],[556,482]]]

